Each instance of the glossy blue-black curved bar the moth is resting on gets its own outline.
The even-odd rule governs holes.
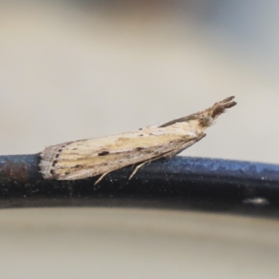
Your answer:
[[[259,206],[265,206],[264,210],[269,208],[274,213],[276,209],[279,213],[279,165],[177,156],[145,165],[131,180],[128,177],[133,167],[119,169],[94,186],[98,176],[76,181],[43,179],[39,160],[38,154],[0,156],[0,207],[200,209],[208,204],[214,210],[217,206],[218,210],[235,212],[250,204],[257,211]]]

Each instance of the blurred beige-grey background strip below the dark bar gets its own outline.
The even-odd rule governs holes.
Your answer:
[[[149,209],[0,211],[1,278],[277,279],[276,220]]]

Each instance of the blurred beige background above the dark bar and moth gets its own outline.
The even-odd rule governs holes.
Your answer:
[[[279,163],[279,3],[0,2],[0,153],[238,105],[187,156]]]

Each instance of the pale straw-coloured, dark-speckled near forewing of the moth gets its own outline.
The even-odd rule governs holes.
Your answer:
[[[161,128],[153,129],[153,134],[142,132],[143,130],[138,130],[110,137],[68,142],[62,150],[61,146],[50,146],[41,155],[43,160],[40,167],[43,174],[46,174],[45,178],[82,179],[151,160],[190,140],[184,133],[179,135],[179,130],[174,134],[164,133]],[[130,140],[132,138],[137,140]],[[103,145],[100,146],[100,142],[103,142]],[[166,142],[169,144],[166,145]]]

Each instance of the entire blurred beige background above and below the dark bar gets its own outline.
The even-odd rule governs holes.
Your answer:
[[[0,0],[0,154],[234,95],[183,155],[279,163],[278,26],[275,0]],[[146,207],[1,209],[1,278],[278,278],[278,220]]]

